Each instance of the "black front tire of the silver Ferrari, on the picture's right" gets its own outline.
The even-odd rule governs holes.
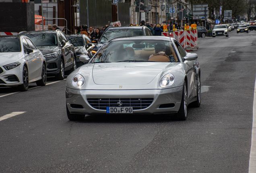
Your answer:
[[[186,81],[184,80],[183,91],[182,91],[182,100],[181,100],[180,109],[176,115],[176,118],[181,121],[186,120],[187,119],[187,109],[188,109],[187,86],[186,86]]]

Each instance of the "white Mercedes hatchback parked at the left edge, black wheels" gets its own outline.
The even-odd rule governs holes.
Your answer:
[[[27,91],[30,82],[46,84],[45,57],[27,36],[0,36],[0,86]]]

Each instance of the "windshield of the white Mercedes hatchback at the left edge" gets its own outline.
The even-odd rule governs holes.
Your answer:
[[[21,52],[19,38],[0,38],[0,52]]]

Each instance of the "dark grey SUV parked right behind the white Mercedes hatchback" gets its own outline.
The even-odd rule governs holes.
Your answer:
[[[64,79],[65,71],[76,69],[76,54],[73,44],[61,30],[29,31],[21,35],[29,37],[46,59],[47,76]]]

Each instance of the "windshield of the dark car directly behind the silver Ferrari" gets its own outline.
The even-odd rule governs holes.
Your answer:
[[[117,37],[123,36],[142,36],[143,31],[142,29],[135,29],[135,28],[117,28],[117,29],[109,29],[104,32],[103,36],[101,37],[100,43],[104,44],[108,40]]]

